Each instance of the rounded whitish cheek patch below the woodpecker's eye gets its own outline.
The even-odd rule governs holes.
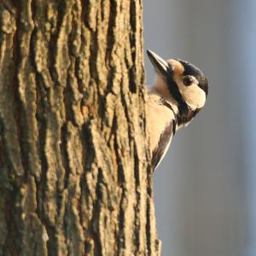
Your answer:
[[[196,83],[185,86],[182,81],[178,81],[177,86],[184,101],[190,108],[202,108],[205,105],[207,100],[206,93]]]

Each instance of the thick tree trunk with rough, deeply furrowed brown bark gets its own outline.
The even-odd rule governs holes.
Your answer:
[[[157,255],[142,0],[0,0],[0,255]]]

